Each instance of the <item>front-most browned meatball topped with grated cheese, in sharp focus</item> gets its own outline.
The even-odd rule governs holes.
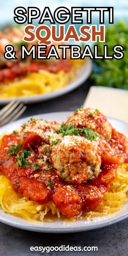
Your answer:
[[[64,136],[52,146],[51,160],[57,174],[75,184],[97,177],[101,166],[98,142],[81,136]]]

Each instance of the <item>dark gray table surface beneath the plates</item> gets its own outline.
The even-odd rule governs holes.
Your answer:
[[[87,81],[78,89],[57,99],[28,105],[22,115],[33,116],[40,113],[74,111],[82,105],[87,96],[91,81]],[[128,219],[114,225],[81,233],[47,234],[20,230],[0,223],[0,255],[31,256],[31,255],[98,255],[127,256],[128,255]],[[31,246],[97,246],[98,252],[31,252]]]

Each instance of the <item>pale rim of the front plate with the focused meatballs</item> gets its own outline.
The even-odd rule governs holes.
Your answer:
[[[41,115],[64,115],[64,116],[68,116],[72,113],[72,111],[60,111],[60,112],[50,112],[50,113],[43,113],[43,114],[37,114],[37,115],[33,115],[34,117],[39,117]],[[25,119],[29,119],[31,116],[28,116],[28,117],[25,117],[25,118],[22,118],[22,119],[18,119],[16,121],[14,121],[12,124],[17,124],[17,123],[22,123],[25,121]],[[111,118],[109,117],[110,120],[116,120],[116,121],[119,121],[121,123],[124,123],[125,125],[128,125],[128,123],[126,122],[123,122],[119,119],[115,119],[115,118]],[[6,129],[6,126],[9,126],[10,124],[7,124],[7,125],[4,125],[2,127],[0,127],[0,132],[1,130],[5,127]],[[1,209],[2,213],[3,213],[3,210]],[[4,213],[3,213],[4,214]],[[10,216],[10,214],[7,214],[7,216]],[[102,228],[102,227],[106,227],[106,226],[109,226],[109,225],[112,225],[114,223],[117,223],[125,218],[128,217],[128,212],[123,212],[121,213],[120,215],[115,215],[113,217],[110,217],[110,218],[107,218],[103,221],[98,221],[98,222],[94,222],[92,224],[88,223],[87,225],[84,225],[83,226],[74,226],[74,227],[56,227],[56,224],[55,224],[55,227],[43,227],[43,226],[33,226],[33,223],[32,222],[29,222],[28,221],[28,224],[24,224],[24,223],[20,223],[18,222],[18,219],[22,219],[20,217],[17,217],[17,216],[14,216],[14,218],[16,218],[16,220],[10,220],[9,218],[7,218],[6,214],[5,214],[5,217],[4,216],[1,216],[0,215],[0,221],[4,224],[7,224],[9,226],[12,226],[12,227],[16,227],[16,228],[19,228],[19,229],[24,229],[24,230],[28,230],[28,231],[34,231],[34,232],[44,232],[44,233],[71,233],[71,232],[82,232],[82,231],[87,231],[87,230],[93,230],[93,229],[98,229],[98,228]],[[50,223],[49,223],[50,224]]]

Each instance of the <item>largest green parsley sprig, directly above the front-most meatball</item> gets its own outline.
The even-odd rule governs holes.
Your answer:
[[[68,127],[66,124],[61,124],[60,130],[57,133],[62,133],[63,136],[72,134],[78,135],[79,131],[78,128],[73,127],[72,123],[70,123]]]

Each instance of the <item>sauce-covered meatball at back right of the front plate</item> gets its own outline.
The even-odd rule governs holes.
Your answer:
[[[68,116],[66,125],[70,123],[75,127],[87,127],[94,132],[101,134],[106,141],[111,139],[112,126],[108,122],[105,115],[98,109],[81,109],[76,110],[72,115]]]

